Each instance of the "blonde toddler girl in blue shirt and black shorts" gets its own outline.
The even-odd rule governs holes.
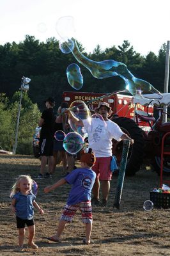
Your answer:
[[[36,196],[32,193],[31,188],[33,180],[29,175],[20,175],[12,187],[12,212],[16,214],[17,228],[19,228],[19,250],[23,251],[25,225],[27,225],[29,236],[28,245],[33,249],[38,246],[33,242],[35,237],[35,223],[33,220],[34,207],[43,214],[43,209],[35,202]]]

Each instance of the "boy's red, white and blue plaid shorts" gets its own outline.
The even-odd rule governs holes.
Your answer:
[[[63,208],[63,212],[60,220],[71,222],[73,219],[73,216],[75,215],[75,212],[78,209],[81,211],[82,223],[91,223],[93,220],[91,201],[80,202],[75,205],[66,204],[65,207]]]

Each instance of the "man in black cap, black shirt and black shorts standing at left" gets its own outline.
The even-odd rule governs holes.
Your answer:
[[[55,100],[52,97],[47,98],[45,100],[45,109],[42,113],[40,121],[38,125],[42,127],[40,133],[40,156],[41,156],[41,168],[40,174],[38,178],[44,177],[45,166],[47,164],[48,157],[48,166],[49,172],[46,173],[45,177],[50,177],[52,172],[52,164],[53,164],[53,139],[54,139],[54,111],[53,108],[55,106]]]

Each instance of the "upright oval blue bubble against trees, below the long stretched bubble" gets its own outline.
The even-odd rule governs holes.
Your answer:
[[[73,63],[70,64],[66,68],[66,76],[68,79],[68,83],[74,88],[75,90],[80,90],[82,88],[83,79],[81,74],[81,68]]]

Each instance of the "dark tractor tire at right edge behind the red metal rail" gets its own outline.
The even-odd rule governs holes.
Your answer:
[[[160,161],[160,156],[155,156],[155,158],[153,159],[153,168],[155,172],[158,173],[158,175],[160,175]],[[170,156],[164,156],[163,166],[163,173],[166,175],[170,175]]]

